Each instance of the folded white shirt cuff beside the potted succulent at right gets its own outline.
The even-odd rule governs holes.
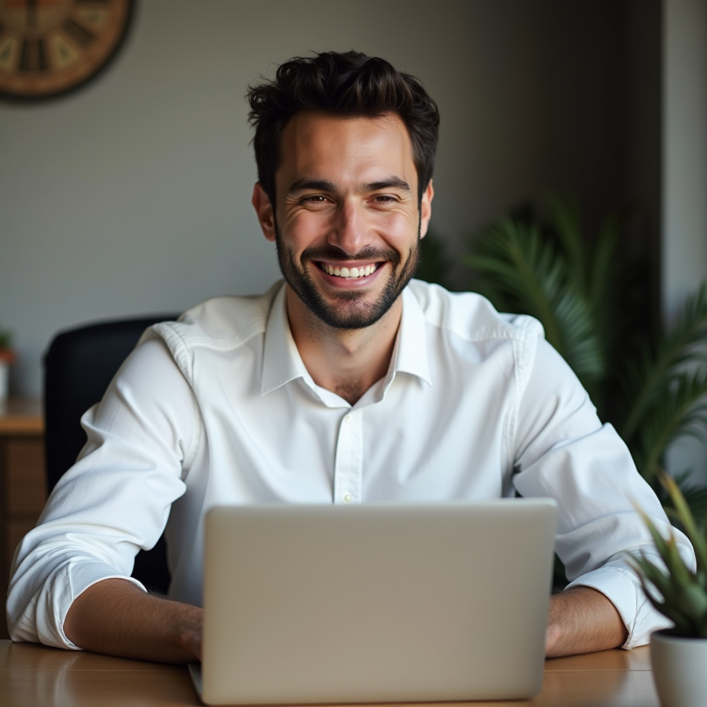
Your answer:
[[[621,648],[645,645],[650,641],[653,631],[672,626],[672,621],[657,612],[645,598],[640,581],[627,568],[604,565],[581,575],[566,589],[577,586],[591,587],[602,592],[614,604],[629,631],[629,637]]]

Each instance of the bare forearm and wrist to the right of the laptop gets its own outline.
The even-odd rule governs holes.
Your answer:
[[[614,604],[590,587],[573,587],[550,597],[545,657],[619,648],[629,631]]]

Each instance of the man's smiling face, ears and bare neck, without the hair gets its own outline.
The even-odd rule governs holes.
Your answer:
[[[270,194],[265,184],[255,185],[253,205],[277,244],[298,351],[317,385],[353,405],[390,365],[432,180],[419,194],[397,115],[307,110],[286,124]]]

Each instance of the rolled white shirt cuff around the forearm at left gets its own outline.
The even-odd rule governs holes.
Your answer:
[[[56,648],[69,648],[82,650],[75,645],[64,633],[64,621],[69,607],[79,595],[89,587],[105,579],[124,579],[132,582],[141,590],[146,588],[133,577],[126,577],[115,571],[115,567],[100,561],[69,561],[58,567],[45,582],[40,592],[35,595],[35,631],[41,643],[53,645]],[[28,612],[25,612],[25,616]],[[25,617],[22,617],[23,619]],[[36,640],[25,638],[22,631],[25,621],[18,621],[13,631],[13,641]]]

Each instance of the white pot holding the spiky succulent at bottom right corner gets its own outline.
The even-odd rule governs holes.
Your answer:
[[[707,638],[655,631],[650,662],[662,707],[707,707]]]

